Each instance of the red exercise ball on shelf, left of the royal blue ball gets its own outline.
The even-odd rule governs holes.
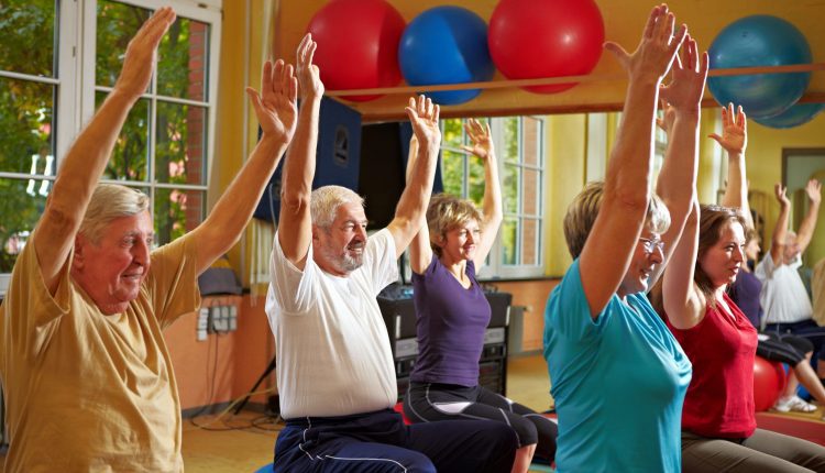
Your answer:
[[[402,80],[398,41],[406,23],[384,0],[332,0],[307,31],[318,43],[315,64],[328,90],[394,87]],[[346,96],[365,101],[381,96]]]

